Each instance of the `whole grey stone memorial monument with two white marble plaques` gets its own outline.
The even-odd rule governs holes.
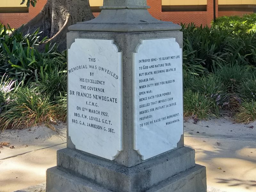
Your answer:
[[[67,148],[47,192],[206,192],[184,147],[182,32],[146,0],[104,0],[69,27]]]

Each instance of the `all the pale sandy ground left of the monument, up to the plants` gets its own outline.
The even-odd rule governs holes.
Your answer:
[[[66,125],[6,130],[0,133],[0,192],[12,192],[45,182],[46,169],[56,166],[56,151],[66,147]],[[14,146],[14,148],[10,148]]]

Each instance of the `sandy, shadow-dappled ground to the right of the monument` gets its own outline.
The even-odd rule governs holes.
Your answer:
[[[185,145],[206,166],[208,191],[256,192],[256,122],[221,118],[184,123]]]

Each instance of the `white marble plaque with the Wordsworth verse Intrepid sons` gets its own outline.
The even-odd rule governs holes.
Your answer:
[[[183,134],[182,49],[141,40],[133,53],[134,149],[143,160],[177,148]]]

